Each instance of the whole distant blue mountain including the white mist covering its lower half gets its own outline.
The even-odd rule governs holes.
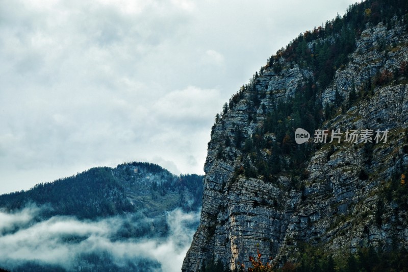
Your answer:
[[[191,242],[202,178],[133,162],[0,195],[0,267],[174,270],[167,258],[184,256]]]

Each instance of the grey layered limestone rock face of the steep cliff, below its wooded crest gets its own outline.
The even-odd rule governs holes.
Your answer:
[[[303,242],[333,253],[369,245],[408,248],[408,202],[396,193],[408,165],[408,32],[403,19],[394,17],[392,26],[367,23],[345,64],[320,90],[312,68],[278,54],[274,66],[265,66],[232,97],[212,130],[201,221],[183,271],[217,260],[231,269],[237,262],[248,267],[257,248],[282,264]],[[311,55],[324,40],[331,42],[330,37],[308,41]],[[300,149],[294,131],[288,129],[282,140],[266,123],[274,114],[285,116],[276,105],[296,102],[308,84],[315,90],[309,100],[321,116],[315,129],[388,130],[387,142],[376,143],[374,132],[373,143],[348,143],[345,135],[341,143],[329,143],[329,134],[327,143],[319,144],[309,131],[311,140],[302,145],[309,152],[294,165]],[[293,111],[286,117],[276,126],[297,122]],[[269,145],[256,149],[261,140]],[[288,144],[291,152],[285,152]],[[266,176],[262,161],[278,169],[268,168]]]

